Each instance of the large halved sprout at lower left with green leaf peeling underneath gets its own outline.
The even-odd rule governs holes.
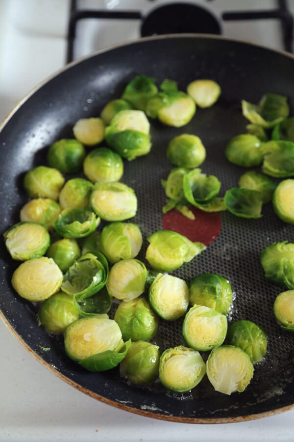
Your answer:
[[[104,371],[117,366],[125,357],[125,343],[113,319],[97,316],[81,318],[65,331],[67,355],[89,371]]]

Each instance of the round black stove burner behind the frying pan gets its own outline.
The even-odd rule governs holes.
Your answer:
[[[221,26],[211,12],[191,3],[171,3],[153,9],[141,26],[142,37],[185,32],[221,34]]]

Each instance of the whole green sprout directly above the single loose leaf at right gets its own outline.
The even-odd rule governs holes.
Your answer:
[[[263,204],[272,200],[273,192],[276,188],[276,184],[267,175],[258,173],[255,170],[245,172],[239,179],[239,186],[260,192]]]

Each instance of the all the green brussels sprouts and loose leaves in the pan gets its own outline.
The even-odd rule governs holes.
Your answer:
[[[52,334],[64,333],[67,355],[87,370],[103,371],[120,364],[121,376],[131,383],[146,386],[159,379],[176,392],[191,390],[207,374],[217,391],[241,392],[253,376],[253,365],[264,359],[265,332],[247,320],[228,326],[233,291],[223,276],[196,275],[188,284],[169,274],[194,259],[205,245],[160,230],[147,238],[149,269],[137,259],[143,237],[140,226],[129,221],[136,215],[137,197],[120,181],[123,159],[131,161],[150,151],[147,116],[182,127],[196,106],[212,106],[221,93],[212,80],[190,83],[187,93],[171,80],[159,88],[155,83],[145,75],[135,77],[121,98],[106,104],[100,117],[77,121],[73,139],[51,144],[46,166],[25,173],[24,188],[30,199],[20,211],[20,222],[4,232],[11,257],[21,261],[12,286],[19,296],[38,303],[40,326]],[[287,118],[285,100],[269,94],[257,106],[246,102],[243,106],[252,124],[248,134],[229,142],[229,161],[246,167],[263,161],[268,175],[269,171],[279,177],[294,174],[290,157],[294,124]],[[273,138],[267,141],[264,128],[273,124]],[[107,147],[97,147],[103,140]],[[162,180],[168,198],[164,212],[176,208],[193,218],[188,208],[192,204],[205,211],[228,209],[257,218],[262,203],[274,195],[278,215],[293,222],[287,205],[292,180],[275,187],[264,174],[249,171],[240,178],[240,188],[221,198],[218,178],[198,168],[206,157],[198,137],[173,138],[167,156],[176,167]],[[83,177],[73,177],[80,172]],[[101,220],[104,226],[98,231]],[[294,275],[275,262],[280,251],[294,259],[294,245],[273,245],[262,255],[266,276],[274,282],[292,278],[288,287],[294,289]],[[275,303],[278,320],[289,330],[294,328],[293,298],[294,291],[285,292]],[[111,306],[113,319],[108,315]],[[152,343],[159,323],[178,319],[183,320],[180,344],[161,354]]]

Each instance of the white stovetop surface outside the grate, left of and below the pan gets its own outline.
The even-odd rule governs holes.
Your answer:
[[[247,0],[246,7],[248,2],[255,8],[264,3]],[[241,3],[244,6],[227,0],[226,9],[242,9]],[[68,8],[69,0],[0,0],[0,120],[33,86],[64,65]],[[23,16],[27,21],[21,22]],[[1,321],[0,355],[0,442],[293,441],[294,410],[248,422],[193,425],[105,405],[54,376]]]

